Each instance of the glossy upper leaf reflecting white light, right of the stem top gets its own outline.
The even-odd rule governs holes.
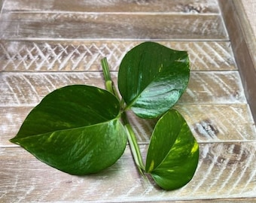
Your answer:
[[[189,80],[187,52],[154,42],[139,44],[123,57],[118,88],[139,117],[159,117],[181,97]]]

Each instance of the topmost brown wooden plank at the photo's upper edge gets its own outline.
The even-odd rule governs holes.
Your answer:
[[[7,11],[69,11],[69,12],[175,12],[175,13],[196,13],[216,14],[219,13],[216,0],[157,0],[147,1],[97,1],[90,0],[8,0],[5,3]]]

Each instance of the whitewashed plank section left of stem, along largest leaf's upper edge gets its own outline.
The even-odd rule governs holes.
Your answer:
[[[99,72],[78,73],[2,73],[0,104],[5,106],[35,105],[44,95],[62,86],[87,84],[104,88]]]

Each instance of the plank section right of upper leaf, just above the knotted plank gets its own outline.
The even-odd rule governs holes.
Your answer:
[[[245,103],[238,71],[192,71],[179,104]]]

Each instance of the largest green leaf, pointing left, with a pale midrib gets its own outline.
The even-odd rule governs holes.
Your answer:
[[[126,147],[120,104],[104,89],[56,89],[26,117],[11,142],[69,174],[92,174],[114,164]]]

